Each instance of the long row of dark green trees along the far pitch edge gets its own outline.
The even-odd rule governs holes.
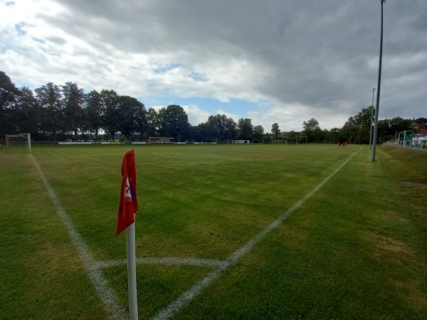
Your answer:
[[[65,85],[48,82],[34,91],[25,86],[17,88],[9,76],[0,71],[0,132],[30,132],[35,141],[145,141],[149,137],[172,137],[175,142],[233,139],[263,142],[265,137],[280,139],[285,135],[290,142],[305,136],[308,142],[368,143],[370,112],[371,107],[362,109],[350,117],[344,127],[331,130],[320,129],[317,120],[312,118],[303,122],[302,132],[280,132],[275,123],[271,132],[265,133],[264,128],[254,126],[251,119],[235,122],[224,114],[211,115],[206,122],[191,126],[184,108],[179,105],[147,110],[135,97],[118,95],[114,90],[85,93],[72,82]],[[412,127],[413,122],[408,119],[380,120],[378,135],[386,139],[395,131]]]

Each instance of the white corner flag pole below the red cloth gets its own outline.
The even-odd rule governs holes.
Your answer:
[[[129,288],[130,319],[138,319],[137,262],[135,259],[135,222],[126,228],[127,240],[127,285]]]

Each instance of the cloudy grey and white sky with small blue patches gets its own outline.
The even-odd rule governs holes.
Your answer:
[[[342,127],[376,87],[380,0],[0,0],[0,70],[270,132]],[[427,1],[384,4],[379,119],[427,117]]]

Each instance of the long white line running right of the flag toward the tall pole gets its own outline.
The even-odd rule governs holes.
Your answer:
[[[265,237],[265,235],[268,235],[268,233],[270,233],[271,230],[276,228],[278,225],[280,225],[280,223],[283,222],[283,220],[288,218],[288,215],[290,215],[290,213],[292,213],[297,208],[302,206],[302,204],[305,203],[305,201],[307,201],[313,194],[315,194],[320,188],[322,188],[322,186],[325,185],[325,183],[327,183],[327,181],[329,181],[330,178],[332,178],[332,176],[337,174],[337,172],[341,170],[342,167],[345,164],[347,164],[347,162],[350,161],[353,158],[353,156],[355,156],[362,149],[363,147],[357,150],[356,152],[354,152],[354,154],[352,154],[352,156],[350,156],[349,159],[344,161],[344,163],[341,166],[339,166],[334,172],[332,172],[330,176],[328,176],[327,178],[325,178],[325,180],[323,180],[321,183],[315,186],[315,188],[313,188],[312,191],[307,193],[307,195],[304,198],[298,201],[295,204],[295,206],[292,206],[285,213],[283,213],[283,215],[280,215],[279,218],[274,220],[273,223],[270,223],[270,225],[268,225],[266,228],[261,230],[260,233],[255,235],[255,237],[253,237],[251,240],[246,242],[245,245],[243,245],[238,250],[233,252],[227,258],[225,264],[214,268],[214,270],[211,270],[211,272],[209,272],[209,274],[207,274],[206,277],[204,277],[199,282],[194,284],[194,286],[191,287],[186,292],[184,292],[184,294],[181,294],[181,296],[178,299],[172,302],[172,304],[169,304],[167,308],[160,311],[159,314],[154,316],[153,319],[164,320],[164,319],[172,318],[179,310],[181,310],[182,307],[186,306],[186,304],[188,304],[189,302],[191,302],[192,299],[197,297],[203,289],[208,287],[212,281],[214,281],[215,279],[218,279],[221,276],[221,274],[228,269],[228,267],[231,267],[231,265],[235,264],[239,259],[241,259],[244,255],[246,255],[246,253],[248,253],[249,250],[253,248],[253,246],[255,246],[258,242],[260,242],[261,239]]]

